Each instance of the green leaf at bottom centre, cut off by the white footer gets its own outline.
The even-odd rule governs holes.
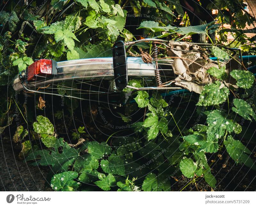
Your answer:
[[[163,176],[149,173],[143,181],[142,189],[144,191],[167,191],[170,189],[170,183],[165,181]]]

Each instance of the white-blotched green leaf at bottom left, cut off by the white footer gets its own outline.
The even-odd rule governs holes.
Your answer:
[[[59,174],[55,174],[52,177],[51,187],[56,191],[74,191],[80,183],[74,181],[78,174],[73,171],[67,171]]]

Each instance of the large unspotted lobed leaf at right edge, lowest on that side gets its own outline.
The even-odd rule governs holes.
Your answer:
[[[236,163],[244,163],[247,167],[256,170],[254,161],[248,156],[248,154],[250,155],[252,152],[239,140],[234,140],[233,137],[229,135],[224,145],[226,146],[228,154]]]

